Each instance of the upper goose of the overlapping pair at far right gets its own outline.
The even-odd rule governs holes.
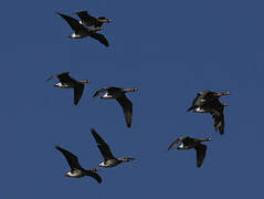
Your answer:
[[[192,111],[193,113],[209,113],[209,109],[207,109],[207,105],[210,102],[219,100],[219,97],[223,95],[230,95],[230,92],[211,92],[211,91],[204,91],[199,92],[196,96],[196,98],[192,102],[191,107],[189,107],[187,111]]]

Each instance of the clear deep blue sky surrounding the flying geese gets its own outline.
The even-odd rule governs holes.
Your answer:
[[[264,3],[257,0],[4,1],[1,3],[1,198],[263,197]],[[88,10],[114,20],[110,46],[70,40],[55,14]],[[70,71],[92,80],[78,106],[73,92],[45,80]],[[131,129],[119,105],[93,98],[105,86],[138,87]],[[197,92],[222,97],[225,134],[210,115],[187,113]],[[89,128],[117,157],[136,160],[92,178],[68,171],[60,145],[84,168],[102,161]],[[201,168],[194,150],[166,151],[177,137],[213,138]]]

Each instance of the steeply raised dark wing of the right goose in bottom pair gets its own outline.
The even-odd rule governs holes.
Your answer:
[[[96,143],[97,143],[97,147],[99,148],[99,151],[102,154],[102,156],[104,157],[105,161],[107,161],[108,159],[116,159],[114,157],[114,155],[110,151],[109,146],[105,143],[105,140],[95,132],[94,128],[91,129]]]

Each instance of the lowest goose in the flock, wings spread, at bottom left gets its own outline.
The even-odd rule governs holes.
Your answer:
[[[78,158],[74,154],[70,153],[68,150],[66,150],[60,146],[55,146],[55,148],[63,154],[63,156],[67,160],[68,166],[71,167],[71,171],[66,172],[64,175],[65,177],[81,178],[84,176],[89,176],[89,177],[94,178],[98,184],[102,182],[101,176],[95,172],[95,171],[97,171],[96,168],[86,170],[80,166]]]

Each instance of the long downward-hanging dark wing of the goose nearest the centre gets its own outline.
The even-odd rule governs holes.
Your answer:
[[[126,97],[125,94],[116,100],[122,105],[127,127],[130,128],[133,118],[133,103]]]

